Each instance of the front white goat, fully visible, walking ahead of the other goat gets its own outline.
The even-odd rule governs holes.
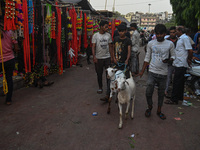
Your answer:
[[[118,86],[118,106],[119,106],[119,115],[120,115],[119,129],[121,129],[122,128],[122,104],[127,103],[126,114],[125,114],[125,119],[127,119],[131,98],[133,98],[132,112],[131,112],[132,119],[134,115],[136,84],[135,84],[135,81],[133,80],[131,72],[130,72],[130,78],[128,79],[124,77],[118,78],[117,86]]]

